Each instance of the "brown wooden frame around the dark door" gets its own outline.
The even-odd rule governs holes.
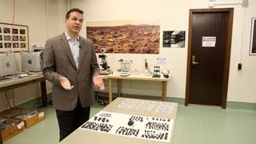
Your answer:
[[[187,53],[187,66],[186,66],[186,97],[185,97],[185,106],[188,106],[189,103],[189,94],[190,94],[190,69],[191,69],[191,39],[192,39],[192,16],[193,14],[207,14],[207,13],[216,13],[216,12],[226,12],[228,15],[227,31],[226,31],[226,55],[225,55],[225,64],[224,64],[224,74],[223,74],[223,86],[222,86],[222,109],[226,109],[226,98],[227,98],[227,89],[230,73],[230,52],[231,52],[231,40],[232,40],[232,28],[233,28],[233,16],[234,8],[220,8],[220,9],[190,9],[190,18],[189,18],[189,38],[188,38],[188,53]]]

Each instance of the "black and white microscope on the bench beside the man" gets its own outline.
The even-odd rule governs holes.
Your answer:
[[[102,45],[101,52],[102,54],[98,55],[98,58],[102,59],[101,63],[99,64],[99,66],[102,66],[102,69],[100,70],[100,74],[102,75],[111,74],[112,70],[110,70],[110,66],[108,66],[106,62],[106,55],[105,55],[106,47],[104,45]]]

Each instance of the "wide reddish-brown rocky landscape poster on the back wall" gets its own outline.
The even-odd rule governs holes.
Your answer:
[[[87,26],[86,38],[94,42],[95,50],[101,53],[159,54],[160,26],[123,25]]]

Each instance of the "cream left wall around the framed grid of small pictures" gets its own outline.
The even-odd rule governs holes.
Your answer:
[[[13,1],[0,0],[0,22],[12,23],[14,8]],[[46,14],[45,1],[43,0],[19,0],[15,1],[14,24],[29,27],[29,42],[38,46],[44,45],[46,41]],[[16,53],[18,68],[20,68],[19,53]],[[16,105],[27,102],[40,96],[38,84],[24,86],[14,90]],[[12,101],[11,101],[12,102]],[[12,105],[13,106],[13,105]],[[0,110],[6,109],[6,98],[0,93]]]

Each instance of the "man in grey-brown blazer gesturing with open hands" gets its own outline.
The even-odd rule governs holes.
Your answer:
[[[45,78],[53,83],[52,99],[59,126],[59,141],[90,118],[94,104],[93,86],[103,90],[94,44],[79,36],[83,11],[66,14],[66,31],[46,41],[43,53]]]

